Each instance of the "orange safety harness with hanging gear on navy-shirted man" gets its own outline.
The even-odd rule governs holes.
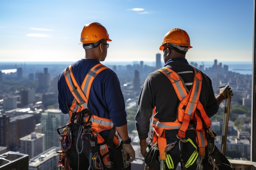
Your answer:
[[[88,74],[85,76],[85,79],[83,80],[81,86],[79,86],[74,78],[74,75],[72,73],[72,65],[68,66],[65,69],[65,80],[72,95],[74,96],[72,106],[70,107],[70,120],[65,127],[69,128],[71,125],[80,126],[79,132],[81,132],[81,139],[90,141],[90,167],[92,166],[93,162],[93,166],[96,169],[111,170],[111,168],[113,168],[113,162],[110,160],[108,145],[110,146],[115,144],[115,146],[119,146],[119,138],[117,136],[115,126],[111,119],[92,115],[92,113],[90,113],[90,110],[88,109],[88,98],[92,82],[94,78],[105,69],[108,69],[108,67],[104,66],[101,63],[92,67]],[[108,141],[105,141],[103,137],[99,134],[103,130],[110,130]],[[96,152],[94,155],[92,155],[92,151],[96,145],[99,146],[99,153]],[[82,151],[80,151],[80,153],[81,152]],[[63,165],[63,163],[61,162],[63,157],[67,159],[65,153],[63,154],[62,152],[62,155],[60,155],[59,165]],[[66,163],[67,160],[65,161],[65,164]]]

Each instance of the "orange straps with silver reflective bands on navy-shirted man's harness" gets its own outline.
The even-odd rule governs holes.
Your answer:
[[[74,96],[74,101],[72,106],[70,107],[70,122],[72,123],[73,114],[79,113],[81,110],[88,109],[88,98],[90,94],[90,88],[94,78],[103,70],[108,69],[108,67],[99,63],[92,67],[88,74],[85,76],[81,87],[76,82],[74,75],[72,73],[72,65],[65,69],[65,80],[67,82],[67,86],[69,87],[72,95]],[[90,113],[91,114],[91,113]],[[108,146],[104,139],[99,135],[99,132],[103,130],[110,130],[114,127],[112,120],[98,117],[96,115],[83,115],[83,122],[91,122],[90,128],[93,130],[94,137],[97,137],[97,141],[100,147],[100,154],[103,156],[103,162],[107,167],[111,167],[112,163],[110,161],[110,157],[107,154],[109,152]],[[74,118],[74,123],[79,118],[79,114],[76,114]],[[115,135],[113,142],[116,145],[119,145],[119,139],[117,134]]]

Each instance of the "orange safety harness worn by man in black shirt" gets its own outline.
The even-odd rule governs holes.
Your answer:
[[[175,71],[171,70],[171,68],[166,66],[157,71],[168,77],[173,85],[178,99],[180,100],[177,119],[174,122],[160,122],[154,117],[155,109],[153,110],[153,144],[157,141],[159,146],[160,169],[164,169],[164,160],[166,160],[165,148],[167,144],[165,130],[178,129],[177,138],[184,142],[187,140],[186,130],[195,130],[197,133],[196,141],[199,148],[198,159],[203,159],[205,155],[205,147],[208,144],[203,126],[205,126],[205,128],[209,128],[211,126],[211,121],[205,113],[201,102],[199,101],[202,87],[202,75],[200,70],[194,68],[195,75],[193,86],[191,87],[190,91],[186,88],[183,79]],[[194,121],[194,124],[190,124],[191,120]]]

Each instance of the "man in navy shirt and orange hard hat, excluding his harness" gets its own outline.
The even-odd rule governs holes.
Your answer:
[[[107,42],[111,40],[106,28],[97,22],[93,22],[84,26],[80,41],[79,44],[83,44],[83,49],[85,49],[85,58],[73,63],[71,68],[77,84],[81,86],[90,69],[105,60],[109,46]],[[67,86],[65,71],[63,71],[58,78],[58,103],[63,113],[70,113],[73,100],[74,96]],[[130,158],[127,163],[131,163],[135,159],[135,151],[128,136],[124,97],[119,79],[110,68],[101,71],[94,78],[90,87],[88,109],[92,115],[112,120],[123,144],[123,156]],[[78,168],[88,170],[90,142],[86,140],[82,142],[77,126],[71,126],[71,129],[72,145],[67,151],[70,168],[73,170]],[[107,139],[108,133],[109,130],[103,130],[100,135]],[[80,154],[78,154],[78,151]],[[91,169],[95,169],[95,167],[91,166]]]

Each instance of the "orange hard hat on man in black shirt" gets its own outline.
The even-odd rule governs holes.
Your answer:
[[[188,51],[188,49],[192,48],[192,46],[190,46],[189,35],[186,33],[186,31],[178,28],[172,29],[166,33],[166,35],[164,35],[164,40],[159,49],[163,51],[164,46],[167,44],[171,44],[181,51]]]

